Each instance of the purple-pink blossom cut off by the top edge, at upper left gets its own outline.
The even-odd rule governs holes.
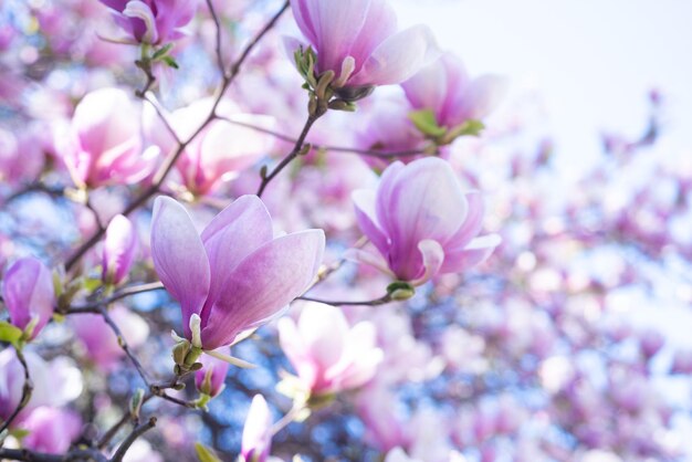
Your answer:
[[[101,0],[114,10],[125,41],[166,44],[185,36],[182,29],[195,18],[199,0]]]

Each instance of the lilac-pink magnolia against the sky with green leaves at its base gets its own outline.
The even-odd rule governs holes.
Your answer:
[[[430,109],[441,127],[455,128],[487,116],[502,98],[504,78],[482,75],[471,78],[452,53],[422,67],[401,84],[416,109]]]

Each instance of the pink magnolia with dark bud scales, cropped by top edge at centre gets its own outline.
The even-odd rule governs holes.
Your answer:
[[[437,55],[427,27],[397,32],[396,13],[385,0],[291,0],[291,7],[317,54],[316,72],[334,71],[332,86],[349,88],[343,97],[403,82]]]

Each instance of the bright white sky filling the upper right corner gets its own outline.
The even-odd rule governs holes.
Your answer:
[[[602,129],[640,135],[652,87],[665,96],[667,146],[692,158],[692,1],[395,3],[402,25],[432,27],[472,75],[504,74],[514,92],[537,90],[562,161],[594,158]]]

